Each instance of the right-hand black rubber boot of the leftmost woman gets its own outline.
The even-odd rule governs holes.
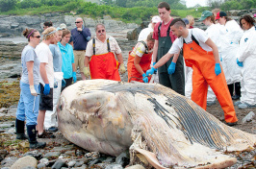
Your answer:
[[[42,149],[46,146],[45,142],[38,142],[37,140],[36,125],[27,125],[27,132],[31,149]]]

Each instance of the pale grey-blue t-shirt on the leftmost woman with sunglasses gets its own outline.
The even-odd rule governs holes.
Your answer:
[[[34,67],[33,67],[34,84],[39,84],[40,61],[38,60],[38,56],[35,52],[35,48],[30,45],[25,46],[21,53],[22,75],[21,75],[20,81],[24,84],[29,84],[29,75],[28,75],[28,68],[27,68],[28,61],[34,61]]]

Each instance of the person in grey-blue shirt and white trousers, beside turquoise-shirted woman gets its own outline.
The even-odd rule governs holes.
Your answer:
[[[64,73],[62,72],[63,58],[62,58],[61,50],[57,44],[62,39],[62,36],[63,36],[62,29],[57,28],[57,33],[56,33],[54,43],[49,45],[49,48],[53,56],[53,69],[54,69],[53,111],[47,110],[45,112],[45,119],[44,119],[44,128],[49,132],[58,131],[56,109],[57,109],[57,103],[61,95],[62,84],[65,84]]]

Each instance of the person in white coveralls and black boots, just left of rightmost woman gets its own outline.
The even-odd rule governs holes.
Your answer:
[[[227,16],[226,12],[218,12],[216,20],[224,26],[221,37],[221,58],[226,82],[233,100],[241,97],[241,67],[237,65],[236,55],[239,49],[239,40],[243,31],[239,24]],[[234,93],[235,84],[235,95]]]

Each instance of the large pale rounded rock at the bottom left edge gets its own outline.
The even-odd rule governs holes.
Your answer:
[[[24,167],[37,167],[38,161],[35,157],[20,157],[16,160],[10,169],[20,169]]]

